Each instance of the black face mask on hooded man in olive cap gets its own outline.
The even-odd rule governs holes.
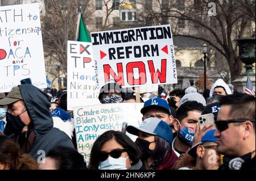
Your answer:
[[[26,124],[23,123],[23,121],[18,116],[13,116],[9,112],[6,112],[6,127],[7,130],[5,132],[8,132],[8,134],[20,134],[22,133],[22,129],[26,126]]]

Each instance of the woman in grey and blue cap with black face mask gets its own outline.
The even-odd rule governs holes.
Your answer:
[[[155,117],[145,119],[139,127],[129,125],[126,131],[138,136],[135,143],[142,150],[146,169],[171,170],[177,156],[171,148],[172,129]]]

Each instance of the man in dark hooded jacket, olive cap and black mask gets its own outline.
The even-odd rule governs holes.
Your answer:
[[[73,148],[71,139],[53,127],[48,95],[30,84],[13,87],[0,106],[7,105],[5,134],[15,139],[24,153],[37,159],[55,146]]]

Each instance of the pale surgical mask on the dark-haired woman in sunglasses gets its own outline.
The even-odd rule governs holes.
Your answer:
[[[128,156],[129,157],[129,156]],[[112,158],[109,157],[98,165],[98,170],[127,170],[126,159],[128,157]]]

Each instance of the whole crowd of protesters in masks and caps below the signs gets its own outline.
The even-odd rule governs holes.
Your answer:
[[[142,124],[126,128],[137,140],[106,131],[88,165],[77,151],[67,91],[53,99],[30,84],[13,87],[0,94],[0,170],[255,170],[255,96],[230,87],[218,79],[204,94],[188,87],[141,98]],[[115,81],[101,87],[98,99],[137,102]],[[200,124],[200,116],[211,114]]]

